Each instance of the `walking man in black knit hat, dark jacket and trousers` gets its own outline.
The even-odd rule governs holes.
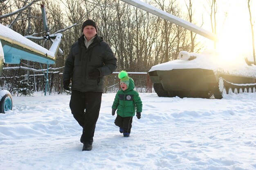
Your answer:
[[[70,90],[71,112],[83,127],[80,141],[84,150],[92,150],[96,122],[101,107],[103,77],[117,68],[117,59],[108,43],[97,34],[97,25],[86,20],[82,25],[83,35],[72,44],[65,62],[63,88]]]

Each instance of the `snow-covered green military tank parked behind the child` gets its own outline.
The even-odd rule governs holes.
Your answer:
[[[215,50],[181,51],[179,59],[153,66],[149,73],[159,97],[221,99],[222,94],[255,93],[252,56],[228,59]]]

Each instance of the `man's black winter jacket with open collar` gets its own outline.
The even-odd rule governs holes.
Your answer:
[[[98,79],[90,79],[88,73],[97,68],[100,72]],[[72,44],[67,57],[63,82],[72,81],[72,90],[81,92],[103,92],[103,78],[110,75],[117,68],[117,59],[108,43],[96,34],[88,49],[84,44],[84,35]]]

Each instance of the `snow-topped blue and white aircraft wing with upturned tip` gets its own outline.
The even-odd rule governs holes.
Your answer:
[[[19,33],[0,24],[0,41],[4,59],[9,64],[19,64],[20,60],[29,60],[44,64],[55,64],[56,53],[61,42],[62,34],[55,35],[56,39],[49,50],[23,37]]]

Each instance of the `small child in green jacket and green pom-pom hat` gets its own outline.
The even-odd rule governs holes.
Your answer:
[[[112,115],[115,115],[117,110],[117,118],[115,125],[119,127],[119,132],[123,133],[124,137],[129,137],[132,128],[132,117],[135,115],[138,119],[141,117],[142,102],[139,93],[134,89],[134,81],[128,77],[126,71],[121,71],[118,74],[120,79],[121,90],[117,91],[115,100],[112,105]]]

